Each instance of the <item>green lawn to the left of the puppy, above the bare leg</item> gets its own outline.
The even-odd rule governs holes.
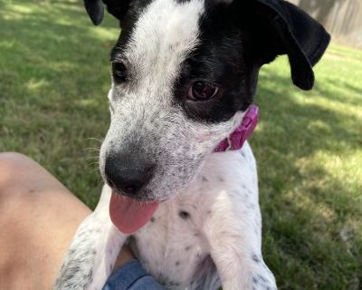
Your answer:
[[[0,151],[33,157],[94,207],[100,142],[90,138],[109,123],[118,24],[93,27],[75,2],[15,1],[0,3],[0,25]]]

